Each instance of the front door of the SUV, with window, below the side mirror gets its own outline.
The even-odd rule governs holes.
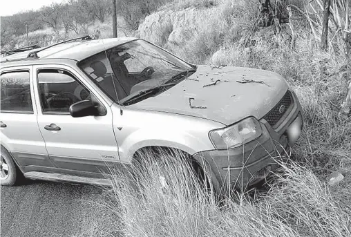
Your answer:
[[[34,67],[39,129],[50,159],[62,172],[100,173],[107,171],[106,164],[119,162],[112,111],[77,70],[61,65]],[[72,117],[70,105],[85,99],[93,99],[101,115]]]

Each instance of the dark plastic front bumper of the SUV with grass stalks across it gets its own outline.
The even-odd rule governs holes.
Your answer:
[[[267,171],[278,168],[276,161],[287,156],[287,149],[296,142],[303,126],[301,104],[292,94],[294,107],[276,129],[261,119],[263,134],[256,140],[235,149],[203,151],[193,155],[205,171],[211,173],[216,191],[246,189],[264,179],[269,173]]]

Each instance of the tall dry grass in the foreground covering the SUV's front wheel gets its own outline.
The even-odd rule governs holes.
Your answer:
[[[267,193],[254,198],[238,193],[219,205],[182,153],[158,159],[145,153],[144,165],[113,175],[106,205],[122,219],[123,236],[351,235],[350,207],[336,202],[337,193],[294,162],[281,163]]]

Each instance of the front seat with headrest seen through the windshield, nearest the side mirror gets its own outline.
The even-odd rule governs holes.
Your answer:
[[[126,91],[124,91],[124,88],[122,88],[120,82],[114,77],[113,73],[107,73],[106,66],[102,61],[94,61],[90,66],[94,70],[93,73],[97,76],[95,81],[103,91],[113,97],[116,101],[127,96]]]

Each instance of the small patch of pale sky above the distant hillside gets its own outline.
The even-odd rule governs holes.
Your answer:
[[[41,6],[48,6],[53,2],[61,3],[66,0],[0,0],[0,16],[9,16],[17,12],[37,10]]]

